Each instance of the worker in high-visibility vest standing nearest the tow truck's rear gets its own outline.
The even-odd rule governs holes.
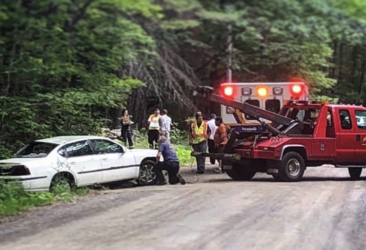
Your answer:
[[[211,135],[210,127],[203,121],[202,112],[196,113],[196,121],[191,124],[189,131],[189,145],[193,147],[194,152],[206,153],[207,139]],[[205,157],[196,156],[197,173],[204,173]]]

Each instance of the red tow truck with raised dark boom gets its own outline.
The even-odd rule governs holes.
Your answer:
[[[324,164],[348,168],[350,177],[357,179],[366,167],[364,107],[285,101],[276,114],[215,94],[210,87],[200,87],[197,94],[250,115],[266,128],[264,132],[231,131],[224,153],[192,153],[219,159],[233,179],[249,180],[261,172],[275,180],[299,181],[307,167]]]

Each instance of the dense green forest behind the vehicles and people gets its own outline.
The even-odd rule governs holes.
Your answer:
[[[123,107],[140,127],[154,107],[183,119],[230,64],[234,81],[301,77],[313,98],[364,103],[366,1],[0,0],[0,158]]]

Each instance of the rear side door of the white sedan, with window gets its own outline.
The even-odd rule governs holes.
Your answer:
[[[67,144],[59,150],[66,157],[67,168],[77,178],[78,186],[92,185],[102,181],[102,164],[99,156],[93,152],[88,141]]]

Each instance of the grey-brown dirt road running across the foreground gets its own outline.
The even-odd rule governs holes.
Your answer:
[[[15,219],[0,224],[0,250],[365,250],[366,178],[322,167],[299,183],[236,182],[211,169],[196,184],[107,191]]]

